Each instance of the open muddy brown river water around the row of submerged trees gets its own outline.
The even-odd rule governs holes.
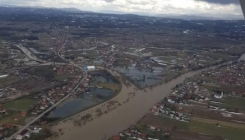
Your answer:
[[[245,54],[241,56],[241,59],[245,59]],[[214,66],[217,67],[217,66]],[[210,68],[214,68],[210,67]],[[72,121],[60,122],[57,125],[52,126],[52,131],[59,132],[60,128],[63,128],[63,135],[59,135],[56,138],[49,138],[49,140],[101,140],[108,139],[109,137],[118,134],[118,132],[128,128],[132,124],[136,124],[145,114],[150,111],[150,108],[157,102],[161,101],[164,97],[171,93],[171,88],[175,87],[176,84],[182,83],[186,78],[192,77],[208,68],[191,71],[183,74],[176,79],[169,81],[168,83],[159,85],[152,90],[146,89],[138,90],[136,96],[130,99],[127,103],[119,106],[117,109],[102,115],[94,119],[92,122],[87,123],[85,126],[77,127],[74,126]],[[118,102],[123,102],[127,98],[127,93],[134,91],[134,87],[127,88],[125,85],[122,86],[122,91],[114,99]],[[85,115],[91,113],[99,107],[103,107],[106,103],[93,107],[85,112],[80,113]],[[79,118],[79,116],[77,117]],[[74,117],[73,119],[76,119]]]

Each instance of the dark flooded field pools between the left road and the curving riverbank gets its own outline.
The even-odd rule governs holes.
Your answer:
[[[94,71],[89,74],[92,76],[91,82],[103,82],[108,84],[118,83],[105,71]],[[66,118],[110,99],[115,93],[116,91],[99,86],[87,87],[82,93],[77,94],[77,97],[71,97],[58,105],[49,113],[48,118]]]

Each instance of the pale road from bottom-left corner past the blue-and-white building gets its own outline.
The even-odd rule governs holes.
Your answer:
[[[66,38],[65,43],[61,46],[60,50],[58,51],[58,56],[59,56],[61,59],[63,59],[63,60],[65,60],[65,59],[60,55],[60,52],[61,52],[62,49],[64,48],[64,46],[65,46],[65,44],[66,44],[68,38],[69,38],[69,37]],[[67,60],[65,60],[65,61],[67,61]],[[68,62],[69,62],[69,61],[68,61]],[[58,101],[57,103],[55,103],[53,106],[51,106],[50,108],[48,108],[47,110],[45,110],[42,114],[38,115],[35,119],[33,119],[31,122],[29,122],[28,124],[26,124],[25,126],[23,126],[23,127],[22,127],[20,130],[18,130],[15,134],[13,134],[12,136],[10,136],[7,140],[15,139],[16,136],[17,136],[20,132],[22,132],[23,130],[27,129],[31,124],[33,124],[35,121],[37,121],[38,119],[40,119],[44,114],[48,113],[48,112],[51,111],[53,108],[55,108],[57,105],[59,105],[60,103],[62,103],[63,101],[65,101],[65,100],[66,100],[68,97],[70,97],[70,95],[71,95],[71,94],[78,88],[78,86],[79,86],[79,85],[86,79],[86,77],[87,77],[87,71],[85,71],[83,68],[79,67],[78,65],[75,65],[75,64],[72,63],[72,62],[69,62],[69,63],[71,63],[72,65],[74,65],[74,66],[76,66],[76,67],[78,67],[78,68],[80,68],[80,69],[82,69],[82,70],[85,72],[85,76],[83,77],[83,79],[80,80],[80,81],[76,84],[76,86],[73,88],[73,90],[72,90],[69,94],[67,94],[63,99],[61,99],[60,101]]]

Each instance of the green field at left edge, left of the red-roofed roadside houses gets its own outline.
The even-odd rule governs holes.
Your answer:
[[[37,103],[34,99],[31,98],[21,98],[15,101],[5,103],[4,108],[14,111],[27,111],[30,107],[34,106]]]

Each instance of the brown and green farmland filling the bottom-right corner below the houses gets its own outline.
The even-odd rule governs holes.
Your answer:
[[[171,128],[173,140],[242,140],[245,137],[245,125],[210,119],[193,118],[191,122],[181,122],[164,116],[147,114],[138,122],[139,125],[152,125]],[[217,126],[219,124],[219,126]],[[205,136],[200,136],[205,134]],[[212,135],[212,136],[208,136]],[[183,136],[183,137],[182,137]],[[186,138],[184,138],[186,137]]]

